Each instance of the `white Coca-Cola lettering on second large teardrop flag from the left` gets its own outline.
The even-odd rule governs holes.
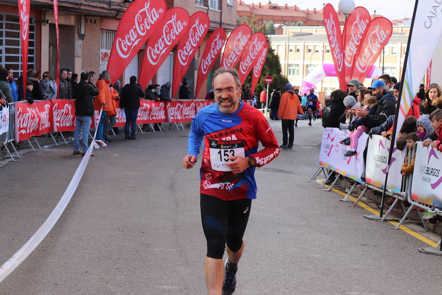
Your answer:
[[[163,35],[158,39],[157,43],[153,46],[146,48],[146,56],[150,64],[156,65],[167,49],[170,48],[173,41],[179,36],[184,27],[187,26],[187,22],[181,23],[176,19],[176,13],[172,15],[170,21],[166,22],[163,27]]]

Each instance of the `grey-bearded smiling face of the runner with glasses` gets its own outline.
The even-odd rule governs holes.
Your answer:
[[[238,87],[235,78],[230,73],[222,73],[213,81],[215,102],[221,113],[233,113],[239,105],[241,87]]]

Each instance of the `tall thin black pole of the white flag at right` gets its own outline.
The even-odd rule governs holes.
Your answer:
[[[401,106],[401,97],[402,97],[402,88],[404,86],[403,81],[405,80],[405,72],[407,69],[407,62],[408,62],[408,55],[409,55],[409,51],[410,51],[410,43],[411,43],[411,38],[412,38],[412,33],[413,33],[413,27],[414,27],[414,19],[416,18],[416,10],[417,10],[417,3],[419,2],[419,0],[416,0],[414,3],[414,11],[413,11],[413,19],[412,19],[412,23],[411,23],[411,28],[410,28],[410,34],[408,36],[408,43],[407,43],[407,51],[405,53],[405,60],[404,60],[404,68],[402,69],[402,78],[401,78],[401,86],[399,88],[399,97],[397,99],[397,104],[396,104],[396,113],[395,113],[395,120],[394,120],[394,124],[393,124],[393,136],[391,137],[391,144],[390,144],[390,150],[388,153],[388,169],[387,169],[387,173],[385,175],[385,184],[384,184],[384,190],[382,192],[382,200],[381,200],[381,214],[380,217],[382,217],[382,215],[384,214],[384,201],[385,201],[385,193],[387,191],[387,179],[388,179],[388,173],[390,170],[390,165],[391,165],[391,156],[393,154],[393,148],[394,148],[394,143],[396,142],[396,130],[397,130],[397,118],[399,116],[399,109]]]

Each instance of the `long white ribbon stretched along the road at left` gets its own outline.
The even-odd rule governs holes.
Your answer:
[[[101,118],[102,112],[103,112],[103,107],[100,110],[100,116],[98,118]],[[92,150],[94,149],[94,146],[98,148],[98,145],[95,143],[97,130],[98,128],[95,128],[94,137],[92,138],[92,142],[89,148],[87,149],[86,154],[83,157],[83,160],[78,166],[77,171],[75,171],[75,174],[71,179],[71,182],[66,188],[57,206],[55,206],[51,215],[49,215],[46,221],[40,226],[40,228],[35,232],[35,234],[33,234],[29,238],[29,240],[20,248],[20,250],[18,250],[11,258],[8,259],[8,261],[6,261],[0,267],[0,282],[4,278],[6,278],[17,266],[19,266],[28,257],[28,255],[38,246],[38,244],[40,244],[40,242],[46,237],[46,235],[48,235],[48,233],[52,230],[55,223],[57,222],[58,218],[60,218],[64,209],[69,204],[69,201],[71,201],[71,198],[74,195],[75,190],[77,189],[77,186],[83,177],[84,170],[86,169],[87,163],[89,162],[90,155],[92,153]]]

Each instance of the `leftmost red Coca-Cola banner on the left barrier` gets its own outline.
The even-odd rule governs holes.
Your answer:
[[[15,103],[15,141],[53,132],[51,100]]]

